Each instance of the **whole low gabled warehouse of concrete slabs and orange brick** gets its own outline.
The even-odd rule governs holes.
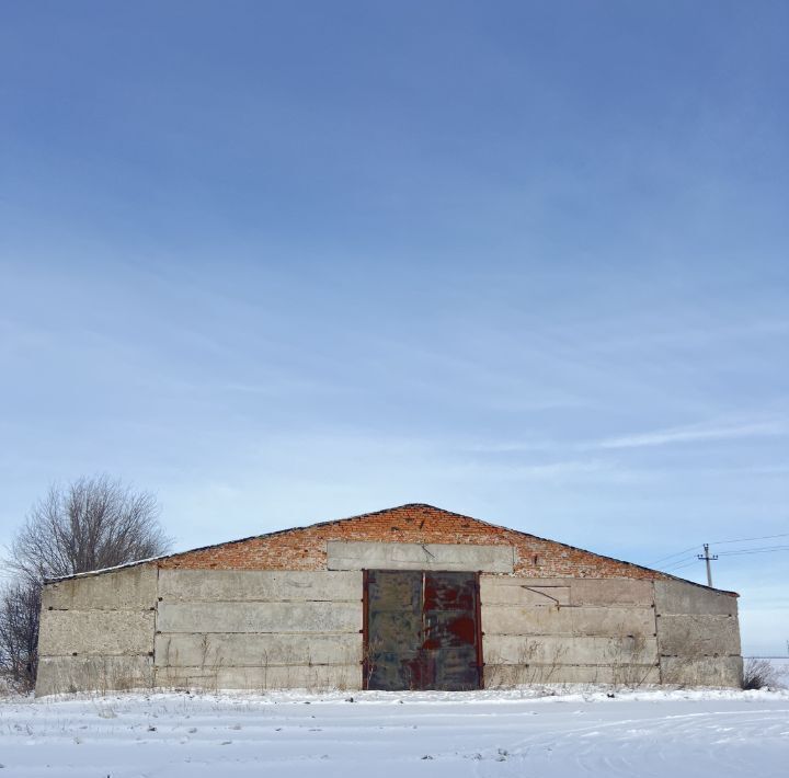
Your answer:
[[[736,597],[411,504],[48,581],[36,693],[739,686]]]

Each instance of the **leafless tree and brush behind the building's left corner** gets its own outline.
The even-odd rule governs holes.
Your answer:
[[[31,510],[7,560],[16,580],[0,596],[0,671],[32,688],[44,581],[165,553],[171,540],[159,513],[152,494],[108,476],[52,487]]]

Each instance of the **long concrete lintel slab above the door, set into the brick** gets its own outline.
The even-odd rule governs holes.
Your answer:
[[[327,541],[329,570],[446,570],[512,573],[512,546]]]

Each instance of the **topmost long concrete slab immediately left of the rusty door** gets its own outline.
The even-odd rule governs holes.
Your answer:
[[[159,596],[169,602],[361,602],[362,572],[161,570]]]

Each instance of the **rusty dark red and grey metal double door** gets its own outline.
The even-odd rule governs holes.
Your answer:
[[[480,688],[478,577],[471,572],[365,571],[365,688]]]

